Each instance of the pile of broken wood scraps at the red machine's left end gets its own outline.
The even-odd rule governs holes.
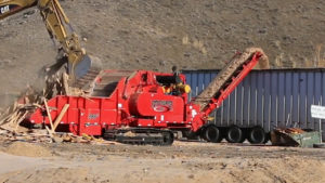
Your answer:
[[[68,109],[68,104],[62,110],[56,119],[51,118],[47,100],[55,95],[78,95],[86,96],[82,90],[74,89],[68,86],[68,76],[55,74],[46,78],[47,87],[42,91],[36,91],[28,88],[21,94],[21,97],[0,115],[0,140],[2,141],[24,141],[24,142],[70,142],[70,143],[92,143],[92,144],[112,144],[112,142],[102,139],[95,139],[89,135],[77,136],[72,133],[55,132],[60,120]],[[48,112],[51,119],[51,126],[42,126],[39,129],[30,129],[24,126],[24,120],[37,108],[43,108]],[[46,129],[43,129],[46,128]]]

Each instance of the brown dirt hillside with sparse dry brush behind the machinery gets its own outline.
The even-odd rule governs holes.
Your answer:
[[[73,27],[106,68],[220,68],[236,50],[261,47],[273,67],[323,61],[322,0],[64,0]],[[30,12],[31,11],[31,12]],[[55,51],[39,12],[0,22],[0,94],[39,82]],[[3,101],[3,97],[2,97]]]

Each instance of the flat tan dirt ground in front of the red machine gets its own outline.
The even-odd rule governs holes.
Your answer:
[[[24,155],[25,154],[25,155]],[[325,151],[179,142],[172,146],[1,143],[0,182],[323,183]]]

